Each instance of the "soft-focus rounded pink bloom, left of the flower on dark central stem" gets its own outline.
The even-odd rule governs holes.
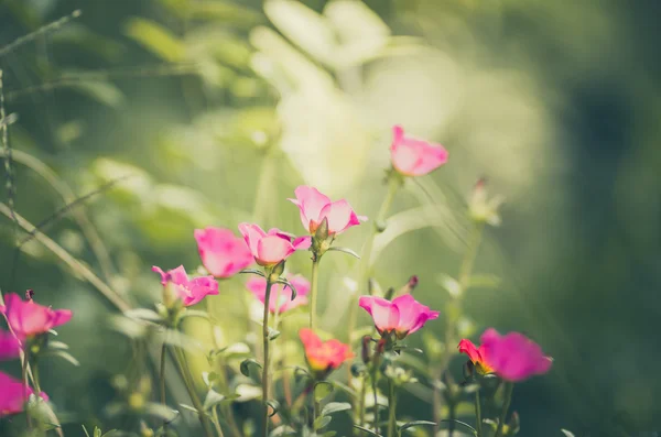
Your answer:
[[[252,264],[254,259],[242,238],[229,229],[195,229],[202,263],[216,277],[229,277]]]

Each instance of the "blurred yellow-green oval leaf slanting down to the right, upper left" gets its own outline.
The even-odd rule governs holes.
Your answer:
[[[183,42],[159,23],[133,17],[124,24],[124,34],[162,59],[172,63],[185,61]]]

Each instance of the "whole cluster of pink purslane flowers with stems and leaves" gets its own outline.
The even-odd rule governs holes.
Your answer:
[[[387,172],[389,190],[362,249],[358,282],[360,291],[367,287],[367,280],[370,276],[375,237],[386,229],[387,215],[399,187],[407,178],[422,177],[438,168],[447,162],[448,157],[447,151],[442,145],[407,136],[401,127],[393,128],[390,155],[391,168]],[[418,286],[418,277],[411,276],[411,280],[397,292],[394,288],[389,288],[383,293],[378,287],[369,287],[366,291],[369,293],[359,293],[358,301],[351,302],[348,320],[346,320],[349,334],[347,343],[332,338],[329,332],[324,332],[316,319],[317,296],[325,292],[325,287],[319,285],[318,280],[319,260],[332,250],[356,255],[350,249],[333,244],[337,236],[360,225],[367,218],[358,216],[347,200],[332,201],[311,186],[297,187],[294,196],[289,200],[299,207],[306,236],[295,237],[277,228],[264,231],[257,225],[246,222],[238,226],[242,238],[224,228],[196,229],[194,239],[197,242],[197,250],[204,265],[201,270],[204,273],[188,275],[183,265],[169,271],[153,267],[153,271],[160,274],[162,285],[161,299],[155,304],[155,310],[137,308],[127,312],[127,316],[141,320],[150,328],[155,327],[156,331],[162,334],[161,361],[156,379],[160,387],[159,398],[163,408],[159,414],[163,420],[156,426],[155,431],[150,429],[145,422],[141,422],[141,435],[153,435],[150,433],[160,436],[176,435],[178,428],[177,424],[170,426],[174,419],[170,417],[174,405],[169,402],[165,385],[167,352],[193,403],[192,406],[185,407],[196,413],[206,437],[216,435],[223,437],[228,430],[232,436],[253,435],[256,434],[253,422],[261,427],[263,436],[329,437],[335,433],[327,428],[332,415],[339,412],[347,412],[345,414],[350,412],[349,417],[356,435],[399,437],[411,427],[432,426],[435,430],[442,424],[447,425],[451,436],[456,426],[469,429],[477,437],[502,437],[517,434],[518,415],[512,413],[509,422],[507,420],[513,385],[530,376],[549,372],[552,360],[542,352],[540,346],[521,334],[510,332],[501,336],[494,328],[489,328],[481,335],[478,347],[467,338],[459,341],[458,336],[462,331],[457,328],[460,298],[464,298],[472,283],[473,264],[484,226],[495,226],[500,222],[498,208],[502,200],[498,197],[488,197],[484,181],[480,181],[473,192],[468,212],[475,231],[468,241],[459,277],[453,280],[454,282],[451,281],[452,284],[447,286],[452,288],[452,298],[444,312],[445,349],[442,352],[430,351],[431,357],[434,359],[440,357],[440,360],[437,363],[429,364],[429,372],[424,374],[423,380],[424,383],[430,384],[434,396],[433,420],[418,417],[411,422],[403,422],[398,418],[398,394],[411,384],[423,383],[418,380],[410,361],[405,359],[408,354],[415,352],[415,349],[407,345],[407,339],[427,323],[438,318],[440,312],[416,301],[413,292]],[[296,251],[306,250],[312,252],[310,282],[302,275],[285,272],[288,259]],[[260,269],[250,269],[253,264],[259,265]],[[229,347],[212,350],[207,356],[209,363],[218,364],[219,368],[203,375],[208,392],[202,398],[196,384],[198,378],[195,378],[196,374],[191,371],[184,351],[189,337],[185,336],[183,320],[187,317],[205,317],[214,328],[213,315],[196,309],[196,306],[205,299],[208,303],[209,296],[219,294],[218,281],[228,280],[238,273],[254,275],[249,277],[245,285],[262,305],[260,308],[262,361],[260,363],[259,358],[252,356],[252,353],[258,354],[259,348],[250,350],[247,345],[235,352],[230,352]],[[37,359],[45,356],[45,352],[52,351],[53,347],[64,348],[57,345],[58,342],[48,341],[48,336],[53,328],[66,324],[72,318],[72,313],[66,309],[55,310],[34,303],[31,292],[26,294],[25,301],[15,294],[7,294],[3,297],[4,304],[0,305],[0,314],[4,316],[9,330],[0,329],[0,359],[20,358],[23,371],[21,380],[0,373],[0,417],[25,412],[28,427],[45,431],[43,423],[40,425],[40,419],[31,417],[31,411],[35,405],[48,403],[48,397],[40,389]],[[286,328],[297,332],[302,345],[299,361],[304,361],[306,368],[274,368],[273,357],[289,353],[288,346],[282,342],[279,331],[282,329],[281,325],[285,325],[282,319],[305,306],[310,312],[307,326],[301,327],[301,324],[294,319],[291,325],[288,320]],[[375,334],[373,337],[372,335],[362,337],[359,345],[357,341],[351,341],[351,339],[356,340],[353,335],[356,331],[357,308],[362,308],[369,314],[373,324],[371,332]],[[212,331],[215,334],[214,329]],[[171,337],[176,337],[177,340],[173,341]],[[152,337],[145,338],[153,342]],[[455,347],[456,341],[458,346]],[[66,353],[62,350],[58,352]],[[462,383],[456,383],[455,378],[447,370],[451,360],[457,357],[457,352],[468,357]],[[236,373],[236,370],[230,369],[225,358],[216,360],[218,357],[224,357],[224,353],[228,357],[236,353],[243,358],[239,368],[248,379],[251,365],[261,368],[259,376],[261,396],[253,393],[250,397],[261,400],[261,415],[258,420],[241,417],[240,423],[235,422],[230,403],[247,395],[246,390],[239,390],[241,382],[237,383],[237,378],[231,380],[231,373]],[[354,362],[348,365],[351,360]],[[334,372],[344,363],[347,363],[345,365],[350,370],[350,381],[343,381],[340,373]],[[292,369],[294,383],[289,378]],[[280,380],[278,375],[281,375]],[[142,378],[140,381],[147,382],[141,383],[138,390],[149,396],[151,390],[149,379]],[[247,384],[246,380],[241,381]],[[495,382],[497,391],[492,390]],[[124,382],[123,386],[127,385],[128,383]],[[353,405],[330,400],[335,395],[338,397],[345,395],[335,393],[336,387],[340,387],[343,393],[351,398]],[[284,393],[282,396],[284,398],[279,396],[280,391]],[[386,396],[380,395],[383,392],[387,393]],[[481,395],[486,392],[491,392],[494,396],[498,393],[499,397],[502,397],[497,414],[484,408],[486,404]],[[475,427],[455,417],[457,400],[469,393],[475,394]],[[442,405],[436,400],[441,395],[447,401],[449,412],[447,418],[442,418],[441,415]],[[130,402],[134,405],[140,404],[137,398]],[[371,414],[368,414],[370,409],[368,402],[371,403]],[[221,406],[221,416],[216,411],[218,405]],[[137,408],[140,412],[148,409]],[[382,414],[382,409],[387,409],[387,417]],[[485,424],[489,424],[490,428],[485,427]]]

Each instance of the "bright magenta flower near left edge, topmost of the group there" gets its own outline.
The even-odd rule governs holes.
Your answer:
[[[15,293],[4,296],[6,306],[0,306],[9,326],[20,339],[47,332],[64,325],[72,318],[68,309],[52,309],[35,304],[34,301],[23,301]]]

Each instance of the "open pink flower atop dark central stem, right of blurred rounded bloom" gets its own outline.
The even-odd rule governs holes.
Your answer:
[[[278,264],[296,250],[308,249],[311,244],[310,237],[294,239],[291,233],[275,228],[264,232],[257,225],[241,223],[239,225],[239,231],[243,236],[250,253],[254,256],[254,261],[266,267]],[[293,243],[292,239],[294,239]]]

